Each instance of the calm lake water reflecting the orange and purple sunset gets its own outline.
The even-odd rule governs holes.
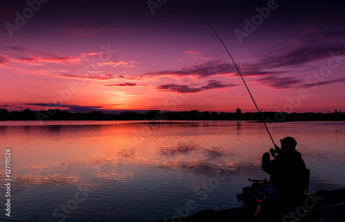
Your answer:
[[[276,143],[295,137],[310,190],[345,188],[345,123],[270,123]],[[28,221],[157,221],[234,208],[235,194],[272,144],[246,121],[0,122],[0,180],[11,149],[11,218]],[[5,204],[5,186],[0,188]],[[9,219],[1,210],[0,219]]]

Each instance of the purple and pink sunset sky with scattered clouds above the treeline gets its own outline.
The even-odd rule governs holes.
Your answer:
[[[0,3],[0,108],[345,110],[342,1]]]

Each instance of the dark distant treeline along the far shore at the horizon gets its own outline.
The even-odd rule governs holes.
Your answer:
[[[100,111],[89,113],[72,113],[66,110],[52,109],[32,111],[29,109],[21,112],[8,112],[0,109],[0,120],[251,120],[266,122],[283,121],[345,121],[345,114],[340,110],[333,113],[287,113],[287,112],[199,112],[198,110],[183,112],[161,112],[149,110],[147,113],[121,112],[120,114],[106,114]]]

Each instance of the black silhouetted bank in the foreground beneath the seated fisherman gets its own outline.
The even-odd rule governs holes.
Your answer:
[[[235,198],[235,197],[234,197]],[[306,194],[299,205],[278,216],[273,221],[345,221],[345,189],[319,190],[313,194]],[[201,210],[192,216],[175,219],[164,219],[156,222],[249,222],[255,221],[253,212],[248,208],[240,207],[228,210]],[[257,221],[257,220],[256,220]],[[262,220],[265,221],[265,220]],[[266,220],[268,221],[268,220]],[[272,221],[272,220],[271,220]]]

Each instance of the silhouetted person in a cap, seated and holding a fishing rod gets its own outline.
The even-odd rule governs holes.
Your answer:
[[[275,150],[270,149],[274,159],[270,160],[269,152],[265,152],[262,157],[262,170],[270,174],[270,182],[262,185],[259,190],[269,196],[270,204],[259,205],[256,215],[268,214],[268,208],[272,205],[297,203],[306,190],[306,165],[302,154],[295,150],[297,142],[293,137],[285,137],[280,143],[282,149],[278,146],[275,146]]]

